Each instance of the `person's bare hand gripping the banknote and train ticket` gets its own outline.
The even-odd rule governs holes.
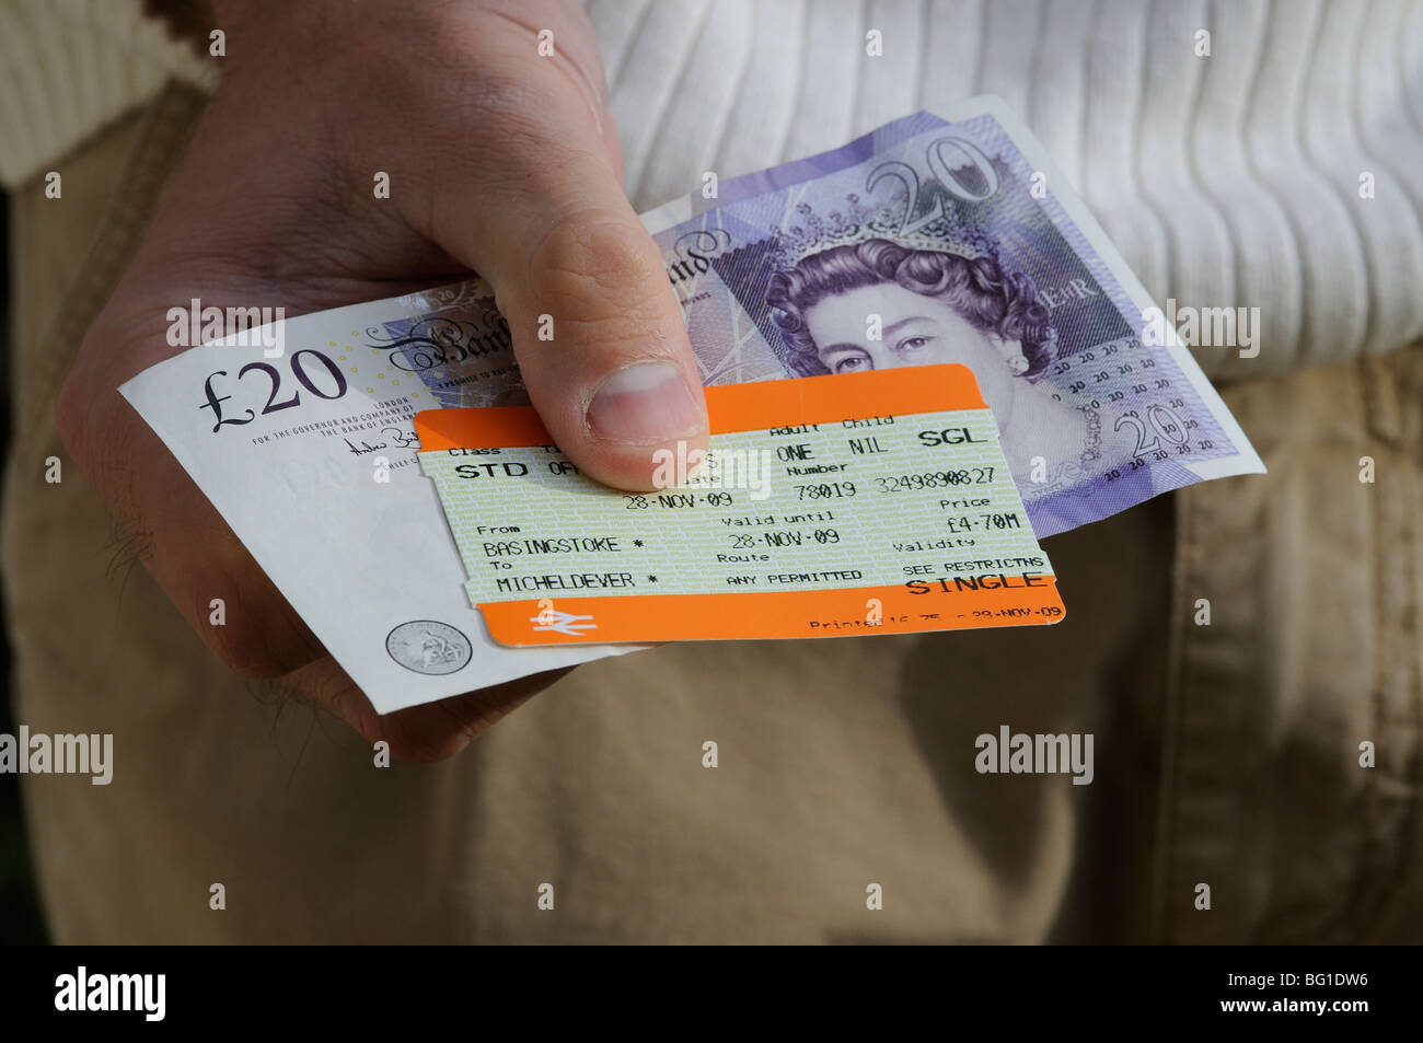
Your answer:
[[[213,10],[222,84],[67,374],[58,431],[221,662],[283,679],[397,757],[448,757],[562,672],[377,716],[117,388],[182,351],[166,312],[192,297],[293,317],[474,270],[559,447],[603,482],[650,488],[657,450],[704,448],[706,406],[660,253],[620,186],[596,43],[569,0]],[[538,337],[542,314],[554,340]],[[225,626],[208,622],[213,598]]]

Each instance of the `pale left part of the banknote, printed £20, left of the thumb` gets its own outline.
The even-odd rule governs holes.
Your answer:
[[[379,713],[636,647],[512,652],[460,585],[414,415],[525,398],[488,286],[269,333],[192,347],[120,391]]]

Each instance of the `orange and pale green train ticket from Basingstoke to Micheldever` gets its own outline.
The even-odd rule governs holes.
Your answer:
[[[1063,603],[965,366],[707,388],[657,488],[579,474],[529,407],[416,415],[495,640],[841,637],[1056,623]]]

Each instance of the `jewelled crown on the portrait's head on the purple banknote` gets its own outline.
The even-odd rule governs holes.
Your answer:
[[[784,272],[813,253],[832,246],[852,246],[865,239],[888,239],[906,249],[953,253],[968,260],[998,259],[998,243],[979,228],[958,226],[939,216],[902,232],[902,208],[892,203],[865,205],[854,192],[845,196],[845,203],[824,218],[810,203],[797,205],[797,223],[783,228],[776,238],[776,268]]]

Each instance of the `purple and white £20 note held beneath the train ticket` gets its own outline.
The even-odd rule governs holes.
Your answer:
[[[1264,471],[995,98],[724,181],[643,223],[707,386],[968,366],[1037,538]],[[487,285],[280,333],[189,349],[120,390],[379,711],[639,647],[505,647],[465,595],[413,417],[528,401]]]

